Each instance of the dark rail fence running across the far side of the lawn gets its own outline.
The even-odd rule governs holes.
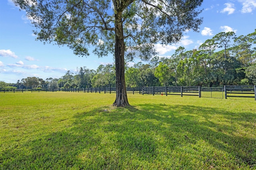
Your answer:
[[[84,93],[115,93],[116,88],[48,88],[48,89],[0,89],[0,92],[84,92]],[[198,96],[199,98],[230,98],[243,97],[254,98],[256,100],[256,85],[248,86],[224,86],[224,87],[201,87],[201,86],[159,86],[126,88],[127,93],[152,94],[157,95],[180,95]]]

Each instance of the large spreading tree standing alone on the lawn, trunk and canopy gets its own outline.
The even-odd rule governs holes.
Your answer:
[[[155,43],[176,43],[186,30],[198,31],[203,0],[13,0],[25,10],[37,39],[67,45],[79,56],[94,46],[99,57],[112,52],[116,66],[114,106],[128,106],[124,54],[156,55]],[[128,55],[132,56],[132,55]]]

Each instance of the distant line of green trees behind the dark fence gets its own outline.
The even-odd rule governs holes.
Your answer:
[[[219,51],[216,51],[216,50]],[[0,82],[0,88],[91,88],[115,87],[114,64],[97,70],[77,68],[61,78],[27,77],[13,84]],[[203,86],[256,84],[256,29],[236,37],[221,32],[206,40],[198,49],[176,49],[169,58],[152,57],[149,64],[126,66],[126,86]]]

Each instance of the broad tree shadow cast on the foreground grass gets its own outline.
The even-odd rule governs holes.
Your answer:
[[[101,107],[6,150],[0,163],[5,169],[255,168],[255,116],[187,105]]]

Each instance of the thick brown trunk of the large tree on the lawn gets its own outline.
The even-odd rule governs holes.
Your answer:
[[[115,63],[116,63],[116,100],[113,106],[124,107],[130,106],[126,94],[126,85],[124,79],[124,31],[121,15],[116,14],[116,46],[115,46]]]

